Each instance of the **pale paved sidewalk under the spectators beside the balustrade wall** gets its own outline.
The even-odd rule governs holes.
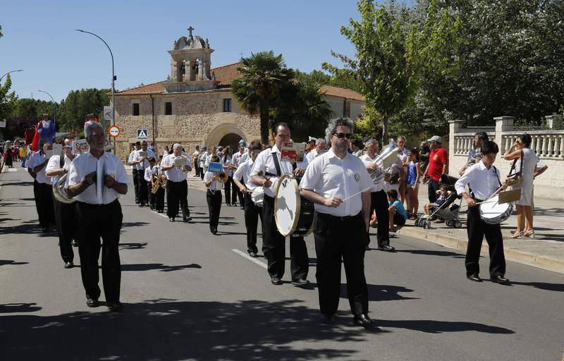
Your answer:
[[[427,199],[427,187],[419,190],[419,212]],[[457,201],[458,202],[458,201]],[[548,269],[564,274],[564,204],[561,201],[535,197],[534,231],[535,238],[510,239],[510,232],[517,229],[517,216],[513,214],[501,224],[505,258],[522,264]],[[462,204],[465,204],[462,200]],[[431,224],[431,229],[415,226],[415,221],[407,221],[398,234],[429,240],[456,250],[466,251],[466,214],[462,207],[460,219],[462,228],[450,228],[445,224]],[[484,239],[482,255],[489,257],[488,245]]]

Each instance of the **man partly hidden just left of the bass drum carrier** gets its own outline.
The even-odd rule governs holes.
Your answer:
[[[235,174],[233,175],[233,182],[237,185],[245,204],[245,227],[247,228],[247,252],[251,257],[257,257],[257,226],[259,217],[262,222],[262,209],[252,202],[250,192],[255,190],[257,186],[251,181],[251,171],[255,159],[262,151],[260,140],[253,140],[250,144],[251,157],[243,163],[239,164]],[[242,203],[243,204],[243,203]]]

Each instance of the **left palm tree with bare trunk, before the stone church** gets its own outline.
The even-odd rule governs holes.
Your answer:
[[[294,71],[286,68],[282,54],[261,51],[241,59],[241,74],[231,82],[231,92],[242,108],[251,115],[259,114],[260,137],[269,144],[270,111],[276,107],[281,90],[294,78]]]

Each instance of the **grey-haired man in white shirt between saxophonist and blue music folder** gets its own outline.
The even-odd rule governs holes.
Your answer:
[[[185,165],[178,168],[175,159],[185,159]],[[173,222],[178,215],[178,204],[182,210],[183,221],[192,221],[190,209],[188,209],[188,181],[187,173],[192,171],[190,157],[182,154],[182,145],[175,143],[172,154],[166,155],[161,161],[161,169],[166,174],[166,215]]]

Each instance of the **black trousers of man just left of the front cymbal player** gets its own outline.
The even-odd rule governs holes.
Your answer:
[[[66,204],[53,199],[57,233],[59,233],[59,248],[63,262],[74,262],[73,238],[78,242],[78,224],[76,204]],[[78,242],[80,243],[80,242]]]

